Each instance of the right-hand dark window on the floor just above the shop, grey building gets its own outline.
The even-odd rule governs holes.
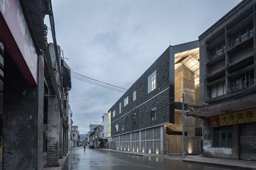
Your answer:
[[[239,90],[241,88],[254,85],[254,72],[253,70],[248,71],[240,76],[233,78],[233,90]]]

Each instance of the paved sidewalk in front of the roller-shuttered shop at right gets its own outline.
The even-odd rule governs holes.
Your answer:
[[[255,161],[247,161],[247,160],[230,160],[230,159],[216,159],[216,158],[185,158],[183,161],[209,164],[209,165],[217,165],[217,166],[228,166],[239,169],[252,169],[256,170],[256,162]]]

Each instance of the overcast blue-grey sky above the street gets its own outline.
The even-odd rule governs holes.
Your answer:
[[[72,71],[129,88],[170,45],[198,40],[241,0],[53,0],[57,43]],[[50,27],[48,16],[45,23]],[[48,30],[50,32],[50,30]],[[48,42],[52,38],[48,35]],[[202,72],[201,72],[202,74]],[[72,78],[80,134],[124,94]]]

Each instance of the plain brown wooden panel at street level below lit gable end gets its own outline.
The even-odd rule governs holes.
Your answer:
[[[166,143],[166,148],[169,148],[170,153],[182,153],[181,135],[166,135],[166,140],[169,141],[169,146]]]

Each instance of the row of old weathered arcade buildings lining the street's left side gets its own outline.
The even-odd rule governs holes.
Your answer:
[[[46,16],[53,43],[47,42]],[[58,166],[70,149],[71,70],[56,42],[51,0],[3,1],[0,25],[2,167]]]

